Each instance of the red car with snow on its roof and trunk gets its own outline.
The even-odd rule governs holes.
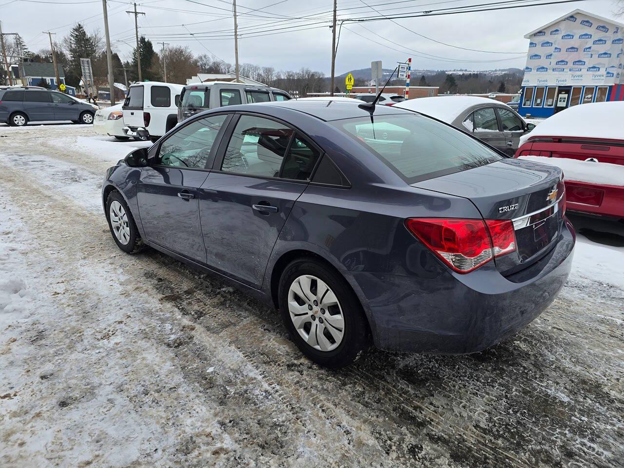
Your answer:
[[[562,168],[570,210],[624,218],[624,102],[568,107],[522,137],[516,157]]]

